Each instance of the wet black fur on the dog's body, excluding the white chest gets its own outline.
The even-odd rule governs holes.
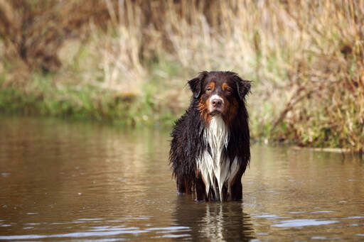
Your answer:
[[[237,100],[237,112],[229,124],[230,139],[228,148],[223,155],[232,160],[236,157],[240,164],[240,169],[232,185],[232,199],[242,199],[241,177],[250,162],[250,133],[248,126],[248,114],[245,107],[245,97],[250,92],[250,82],[240,79],[234,72],[201,72],[200,75],[188,81],[193,92],[191,104],[186,113],[176,121],[171,133],[171,150],[169,160],[173,170],[173,176],[176,177],[178,192],[193,192],[196,190],[198,200],[217,199],[218,194],[213,194],[210,189],[210,196],[205,196],[205,188],[198,172],[196,160],[200,158],[205,149],[210,147],[205,143],[203,133],[205,130],[205,121],[198,109],[199,98],[203,93],[205,79],[208,77],[224,78],[231,83],[233,87],[233,98]]]

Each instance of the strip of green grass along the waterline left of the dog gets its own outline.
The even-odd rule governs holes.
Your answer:
[[[60,84],[54,75],[30,75],[25,87],[0,89],[0,113],[92,119],[127,126],[171,126],[181,110],[158,101],[155,86],[142,94],[115,92],[88,84]],[[1,82],[0,82],[1,84]]]

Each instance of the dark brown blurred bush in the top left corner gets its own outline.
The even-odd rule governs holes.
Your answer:
[[[30,69],[56,71],[58,51],[69,38],[87,33],[90,20],[105,23],[104,1],[0,0],[0,35],[8,53]]]

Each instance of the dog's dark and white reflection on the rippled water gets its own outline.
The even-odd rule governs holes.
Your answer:
[[[176,222],[191,229],[193,241],[250,241],[255,238],[250,216],[241,202],[192,202],[178,196]]]

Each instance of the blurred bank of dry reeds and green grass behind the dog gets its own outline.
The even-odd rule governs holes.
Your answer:
[[[252,138],[364,150],[364,1],[0,0],[0,111],[173,125],[203,70]]]

